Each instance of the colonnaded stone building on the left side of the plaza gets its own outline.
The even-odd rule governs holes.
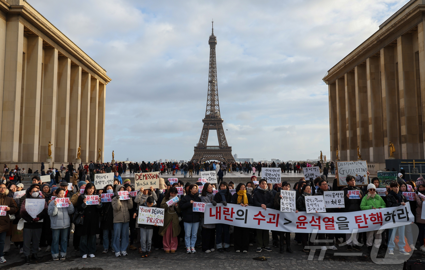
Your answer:
[[[103,160],[110,81],[26,1],[0,0],[0,163],[75,163],[79,146],[82,162],[97,160],[99,148]]]

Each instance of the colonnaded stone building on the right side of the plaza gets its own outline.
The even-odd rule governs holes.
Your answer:
[[[424,42],[425,0],[411,0],[328,71],[331,160],[357,160],[359,146],[384,170],[390,142],[394,159],[424,159]]]

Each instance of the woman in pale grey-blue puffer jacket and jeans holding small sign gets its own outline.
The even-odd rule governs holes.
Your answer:
[[[65,191],[59,189],[58,199],[65,197]],[[68,198],[67,198],[68,199]],[[61,207],[58,207],[61,206]],[[68,203],[68,206],[57,203],[57,200],[51,200],[49,203],[48,214],[50,216],[50,226],[52,229],[51,253],[54,261],[59,260],[59,237],[60,237],[60,260],[65,260],[66,247],[68,245],[68,228],[71,226],[69,215],[74,213],[74,205]]]

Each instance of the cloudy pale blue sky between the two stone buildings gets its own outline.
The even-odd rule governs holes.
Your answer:
[[[105,160],[189,160],[218,95],[239,158],[329,156],[326,71],[408,0],[28,0],[107,70]],[[218,145],[210,132],[209,145]]]

